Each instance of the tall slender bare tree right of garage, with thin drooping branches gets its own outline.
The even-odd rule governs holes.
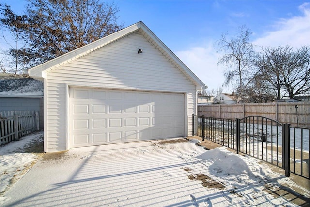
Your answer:
[[[239,33],[235,38],[228,39],[225,34],[217,41],[219,49],[217,52],[226,52],[218,61],[218,64],[228,66],[225,71],[225,84],[235,83],[237,93],[237,103],[240,102],[245,88],[253,78],[253,70],[250,66],[255,54],[254,45],[249,42],[251,32],[245,26],[239,27]]]

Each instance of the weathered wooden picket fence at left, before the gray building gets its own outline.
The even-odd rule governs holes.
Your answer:
[[[6,111],[0,112],[0,145],[19,140],[39,130],[39,112]]]

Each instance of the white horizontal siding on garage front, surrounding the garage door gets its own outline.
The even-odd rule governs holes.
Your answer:
[[[140,33],[47,73],[47,152],[66,150],[68,86],[184,93],[185,135],[192,133],[187,126],[196,113],[195,85]]]

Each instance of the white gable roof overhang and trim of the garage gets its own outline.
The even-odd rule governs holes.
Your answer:
[[[114,32],[106,37],[96,40],[81,48],[77,48],[62,56],[54,58],[46,63],[37,65],[28,70],[28,73],[33,78],[46,78],[46,73],[54,70],[63,64],[67,64],[80,57],[83,57],[96,49],[102,48],[112,42],[115,42],[129,34],[139,31],[145,39],[147,39],[158,51],[162,53],[179,71],[186,76],[188,80],[194,83],[199,89],[204,87],[204,83],[163,43],[158,37],[145,26],[143,22],[138,22],[118,32]]]

